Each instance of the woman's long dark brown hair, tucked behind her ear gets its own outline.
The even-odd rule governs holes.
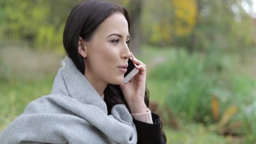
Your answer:
[[[113,13],[121,13],[125,16],[130,31],[130,13],[118,4],[104,1],[88,1],[74,7],[68,16],[63,32],[63,45],[68,57],[72,59],[77,69],[83,75],[85,72],[85,63],[83,57],[80,56],[78,52],[79,37],[82,37],[85,41],[89,41],[95,29]],[[110,113],[112,107],[117,104],[125,104],[127,109],[129,109],[119,85],[108,84],[104,90],[104,101],[107,104],[108,113]],[[149,93],[147,88],[144,102],[146,106],[149,107]],[[162,131],[162,136],[166,141],[164,131]]]

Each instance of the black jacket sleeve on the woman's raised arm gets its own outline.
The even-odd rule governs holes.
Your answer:
[[[158,115],[152,113],[153,124],[144,123],[141,121],[137,121],[133,118],[133,123],[136,125],[137,135],[138,135],[138,143],[154,143],[154,144],[162,144],[165,143],[164,138],[161,134],[161,120]]]

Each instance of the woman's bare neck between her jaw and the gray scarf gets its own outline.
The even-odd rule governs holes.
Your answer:
[[[91,83],[92,87],[95,88],[98,94],[102,96],[104,93],[104,89],[107,87],[108,83],[95,79],[95,77],[92,77],[86,73],[84,74],[84,76]]]

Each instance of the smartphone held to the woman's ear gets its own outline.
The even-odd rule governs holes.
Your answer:
[[[136,69],[136,64],[134,64],[132,61],[131,61],[131,58],[128,59],[128,67],[127,67],[127,71],[124,75],[124,81],[123,83],[127,83],[129,82],[133,76],[135,76],[137,73],[138,73],[138,69]]]

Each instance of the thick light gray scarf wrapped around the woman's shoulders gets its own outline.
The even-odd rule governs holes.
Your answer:
[[[137,143],[136,127],[125,105],[106,103],[65,57],[50,95],[27,105],[0,135],[0,143]]]

